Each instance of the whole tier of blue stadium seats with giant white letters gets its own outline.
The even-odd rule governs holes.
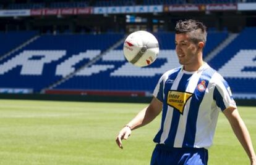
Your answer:
[[[33,31],[1,33],[2,37],[6,35],[10,40],[1,41],[5,48],[1,49],[1,54],[14,49],[35,34]],[[174,33],[154,34],[160,43],[160,55],[147,68],[128,63],[122,54],[122,43],[115,49],[108,50],[124,39],[124,34],[42,35],[0,61],[0,87],[28,88],[40,92],[72,74],[53,89],[152,92],[164,71],[179,66],[174,50]],[[255,88],[248,88],[255,86],[255,76],[251,74],[256,71],[256,44],[253,42],[255,34],[256,28],[245,28],[231,44],[208,62],[223,74],[235,94],[256,92]],[[227,31],[210,31],[205,55],[220,45],[227,36]],[[245,42],[247,44],[243,44]],[[101,53],[101,57],[92,62]],[[242,57],[247,60],[242,60]],[[91,64],[85,66],[89,62]]]

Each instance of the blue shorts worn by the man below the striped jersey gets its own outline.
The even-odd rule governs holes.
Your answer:
[[[158,144],[152,153],[151,165],[207,165],[208,150],[205,148],[170,148]]]

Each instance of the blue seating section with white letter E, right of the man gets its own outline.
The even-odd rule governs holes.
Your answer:
[[[229,82],[234,94],[255,94],[256,28],[245,28],[208,62]]]

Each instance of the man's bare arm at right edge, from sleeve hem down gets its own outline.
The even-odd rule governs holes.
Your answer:
[[[245,126],[244,121],[239,115],[237,109],[229,107],[224,110],[223,113],[226,118],[228,118],[234,134],[236,134],[237,139],[249,156],[251,164],[256,165],[256,156],[252,146],[252,140],[250,139],[249,131],[247,130],[247,127]]]

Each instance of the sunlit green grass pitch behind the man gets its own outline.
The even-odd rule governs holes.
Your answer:
[[[160,116],[132,132],[119,130],[147,104],[0,100],[0,164],[149,164]],[[256,108],[239,107],[256,148]],[[249,164],[220,114],[209,164]]]

